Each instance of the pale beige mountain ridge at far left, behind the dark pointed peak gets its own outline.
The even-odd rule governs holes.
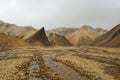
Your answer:
[[[0,21],[0,33],[5,33],[7,35],[16,35],[23,40],[30,37],[36,31],[37,30],[32,26],[17,26],[15,24]]]

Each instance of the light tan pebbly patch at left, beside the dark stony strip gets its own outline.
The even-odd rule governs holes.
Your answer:
[[[17,58],[10,58],[0,61],[0,80],[18,80],[24,79],[25,74],[18,70],[18,66],[22,63],[28,62],[32,53],[15,54]]]

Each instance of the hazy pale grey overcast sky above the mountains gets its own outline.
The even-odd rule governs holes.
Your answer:
[[[46,29],[120,23],[120,0],[0,0],[0,20]]]

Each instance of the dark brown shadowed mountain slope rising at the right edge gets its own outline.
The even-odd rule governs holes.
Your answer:
[[[120,47],[120,24],[95,40],[93,45]]]

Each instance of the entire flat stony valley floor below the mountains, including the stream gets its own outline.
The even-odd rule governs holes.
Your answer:
[[[0,80],[120,80],[120,48],[9,48],[0,53]]]

